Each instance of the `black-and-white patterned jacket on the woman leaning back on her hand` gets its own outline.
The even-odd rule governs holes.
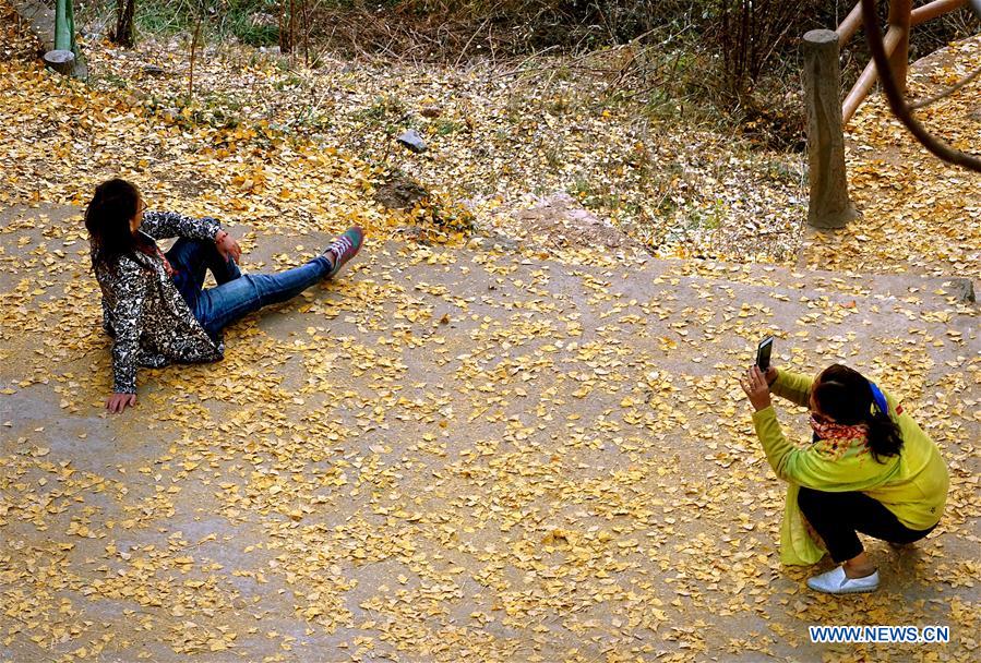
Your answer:
[[[153,240],[212,239],[217,220],[146,212],[140,231]],[[167,275],[164,261],[141,252],[119,258],[116,269],[97,264],[103,291],[103,327],[112,337],[112,390],[136,393],[136,366],[222,359],[225,346],[212,339]]]

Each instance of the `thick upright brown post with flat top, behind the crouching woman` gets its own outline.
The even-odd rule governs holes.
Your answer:
[[[811,179],[807,222],[815,228],[844,228],[859,213],[848,198],[845,171],[838,35],[812,29],[804,35],[801,50]]]

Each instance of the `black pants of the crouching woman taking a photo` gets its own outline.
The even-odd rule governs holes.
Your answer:
[[[801,486],[797,503],[835,562],[851,559],[864,550],[857,532],[890,543],[912,543],[936,527],[911,530],[864,493],[825,493]]]

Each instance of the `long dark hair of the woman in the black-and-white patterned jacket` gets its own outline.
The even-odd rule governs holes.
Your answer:
[[[140,190],[125,180],[108,180],[95,188],[85,209],[93,268],[99,264],[115,268],[121,256],[144,248],[130,230],[130,219],[140,212]]]

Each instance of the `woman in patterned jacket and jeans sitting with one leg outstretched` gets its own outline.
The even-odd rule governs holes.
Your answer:
[[[349,228],[306,265],[243,275],[241,249],[217,220],[145,209],[140,191],[116,179],[96,188],[85,210],[103,326],[113,338],[111,412],[136,403],[137,364],[222,359],[222,329],[332,278],[363,241],[360,228]],[[180,239],[165,254],[156,240],[172,237]],[[208,269],[218,285],[205,289]]]

